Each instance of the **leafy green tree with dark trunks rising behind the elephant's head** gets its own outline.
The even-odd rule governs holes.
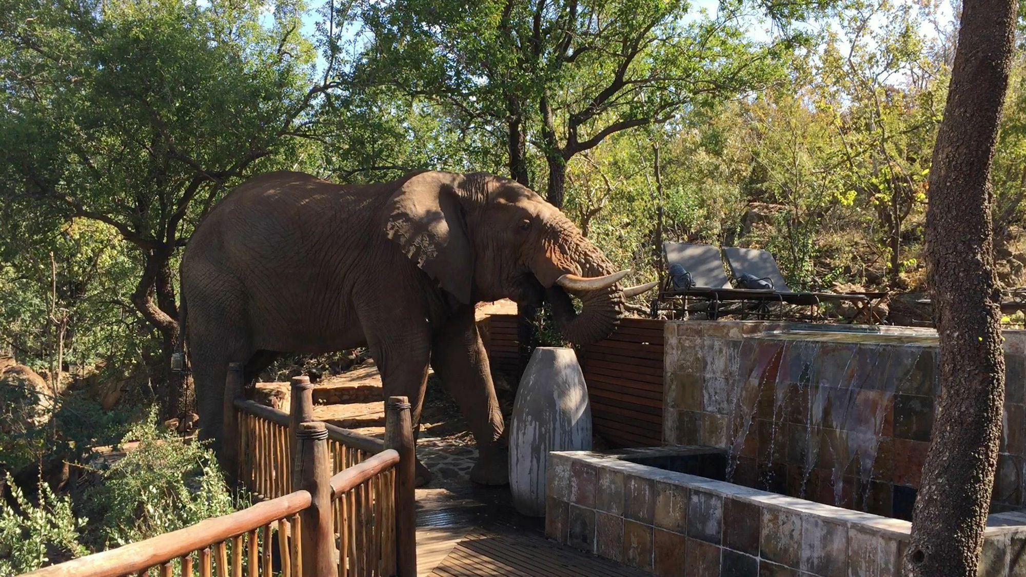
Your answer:
[[[562,206],[566,164],[610,134],[666,122],[687,108],[761,86],[804,38],[786,24],[808,3],[755,4],[786,32],[744,34],[752,4],[721,3],[684,23],[683,1],[374,3],[362,72],[444,104],[505,141],[507,166],[529,185],[526,145],[545,160],[547,196]]]

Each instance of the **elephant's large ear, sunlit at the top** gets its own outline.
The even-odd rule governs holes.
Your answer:
[[[458,176],[446,172],[422,172],[408,179],[389,200],[385,232],[442,288],[469,303],[474,252],[459,186]]]

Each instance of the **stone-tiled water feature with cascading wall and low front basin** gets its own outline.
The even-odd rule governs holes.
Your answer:
[[[1026,333],[1005,338],[983,563],[1023,577]],[[671,321],[664,347],[669,447],[551,453],[547,535],[659,575],[898,574],[939,394],[933,332]]]

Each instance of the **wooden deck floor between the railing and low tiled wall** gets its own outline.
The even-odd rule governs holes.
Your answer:
[[[421,577],[647,575],[549,541],[542,533],[542,520],[522,517],[512,510],[508,488],[418,493]]]

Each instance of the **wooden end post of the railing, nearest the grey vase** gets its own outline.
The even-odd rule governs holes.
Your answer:
[[[385,413],[385,448],[399,453],[395,483],[395,546],[399,577],[417,577],[417,495],[413,424],[409,399],[390,396]]]

